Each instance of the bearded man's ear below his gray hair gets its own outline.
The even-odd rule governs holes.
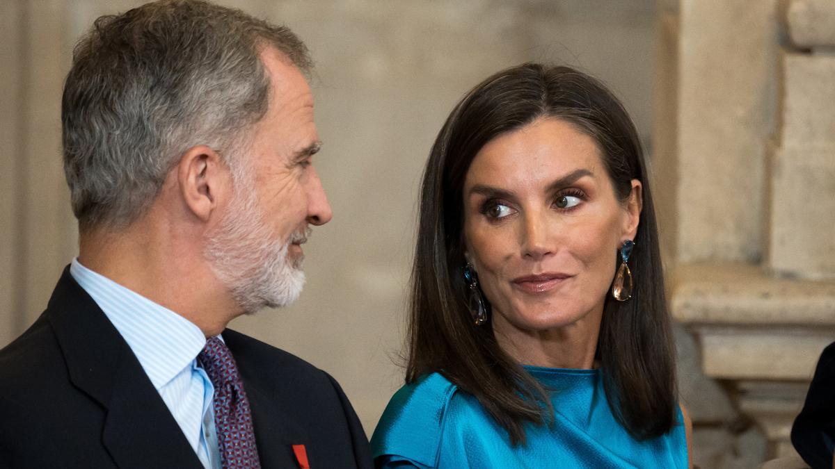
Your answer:
[[[228,192],[230,173],[215,150],[197,145],[180,157],[177,183],[185,206],[205,222],[217,208],[218,198]]]

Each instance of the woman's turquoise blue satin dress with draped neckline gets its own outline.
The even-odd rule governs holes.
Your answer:
[[[554,422],[525,426],[527,444],[511,446],[466,392],[438,373],[392,396],[372,436],[377,467],[687,467],[685,428],[678,411],[667,434],[636,441],[615,420],[598,370],[525,367],[553,389]]]

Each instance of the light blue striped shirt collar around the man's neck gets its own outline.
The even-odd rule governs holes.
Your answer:
[[[73,259],[70,275],[113,323],[157,391],[190,367],[205,346],[197,325]]]

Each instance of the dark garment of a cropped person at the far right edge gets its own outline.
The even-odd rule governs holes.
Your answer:
[[[835,445],[835,343],[817,361],[803,410],[792,426],[792,445],[809,466],[832,467]]]

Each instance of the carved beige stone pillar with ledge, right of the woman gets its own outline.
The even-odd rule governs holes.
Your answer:
[[[792,421],[835,340],[835,3],[662,4],[671,309],[732,406],[718,422],[694,411],[697,445],[725,441],[694,454],[756,466],[794,454]]]

